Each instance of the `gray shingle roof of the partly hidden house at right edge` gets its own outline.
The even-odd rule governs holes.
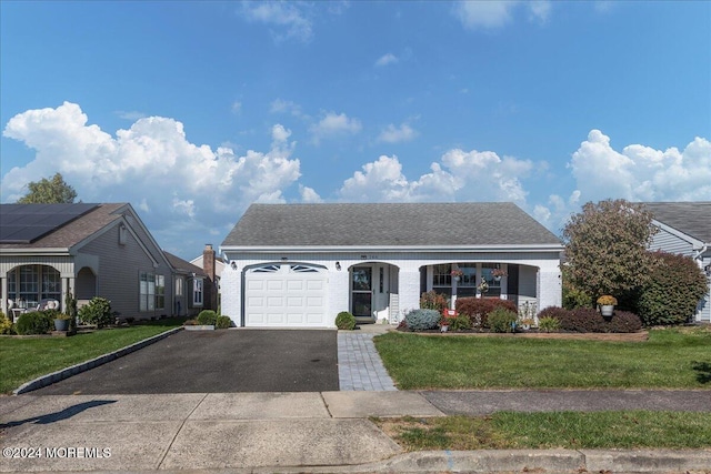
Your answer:
[[[711,201],[697,202],[643,202],[655,220],[711,243]]]

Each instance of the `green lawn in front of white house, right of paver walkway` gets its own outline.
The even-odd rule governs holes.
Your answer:
[[[422,336],[374,339],[401,390],[711,389],[711,330],[657,330],[645,342]]]

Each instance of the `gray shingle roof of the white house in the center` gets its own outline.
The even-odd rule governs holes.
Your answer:
[[[222,246],[560,245],[513,203],[252,204]]]

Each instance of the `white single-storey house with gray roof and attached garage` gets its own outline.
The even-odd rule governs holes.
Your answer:
[[[252,204],[220,246],[237,326],[397,323],[430,290],[561,305],[560,240],[513,203]],[[457,281],[452,270],[461,271]],[[495,278],[494,271],[505,276]]]

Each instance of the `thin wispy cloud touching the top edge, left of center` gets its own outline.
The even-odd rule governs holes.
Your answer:
[[[254,22],[273,27],[274,41],[294,38],[307,42],[313,37],[313,23],[309,19],[308,6],[298,2],[244,2],[244,17]]]

